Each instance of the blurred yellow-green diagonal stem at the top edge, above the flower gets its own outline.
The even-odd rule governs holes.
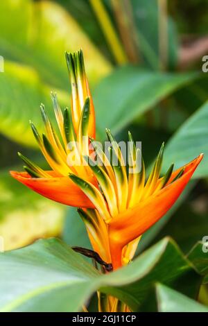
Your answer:
[[[128,59],[125,55],[125,52],[123,51],[123,46],[119,40],[119,37],[116,35],[116,31],[114,30],[114,26],[112,25],[110,17],[105,10],[105,6],[103,6],[101,0],[89,1],[98,19],[98,22],[101,25],[105,39],[110,46],[116,62],[119,65],[124,65],[126,62],[128,62]]]

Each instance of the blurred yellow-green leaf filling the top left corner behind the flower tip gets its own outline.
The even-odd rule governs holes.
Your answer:
[[[46,83],[68,89],[64,51],[85,53],[92,83],[111,70],[110,63],[77,22],[52,1],[0,1],[0,53],[5,59],[35,68]]]

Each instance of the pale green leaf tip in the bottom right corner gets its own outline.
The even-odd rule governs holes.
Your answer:
[[[157,284],[155,292],[159,312],[208,312],[208,307],[163,284]]]

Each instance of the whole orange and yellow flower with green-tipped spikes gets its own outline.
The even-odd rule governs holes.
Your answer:
[[[107,130],[109,159],[94,141],[95,114],[83,53],[67,53],[66,57],[71,80],[71,111],[66,108],[62,112],[56,95],[51,95],[61,137],[55,132],[44,105],[41,105],[41,112],[45,134],[41,136],[31,123],[51,171],[40,169],[19,154],[26,164],[26,171],[11,171],[11,174],[42,196],[78,207],[94,251],[116,269],[128,264],[135,255],[141,235],[175,203],[202,160],[202,154],[176,171],[173,171],[172,164],[161,177],[162,144],[146,178],[141,152],[130,133],[126,169],[121,148]],[[99,158],[99,164],[92,153],[94,158]],[[136,164],[139,160],[141,169]],[[113,301],[112,304],[116,303]]]

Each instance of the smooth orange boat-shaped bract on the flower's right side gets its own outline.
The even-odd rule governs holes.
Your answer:
[[[130,241],[144,234],[159,218],[164,216],[186,187],[191,175],[193,175],[203,155],[184,166],[184,174],[177,180],[166,185],[163,189],[141,201],[125,212],[116,216],[109,225],[110,251],[114,252],[114,267],[121,266],[121,250]],[[172,175],[172,180],[178,170]],[[119,253],[120,251],[120,253]]]

